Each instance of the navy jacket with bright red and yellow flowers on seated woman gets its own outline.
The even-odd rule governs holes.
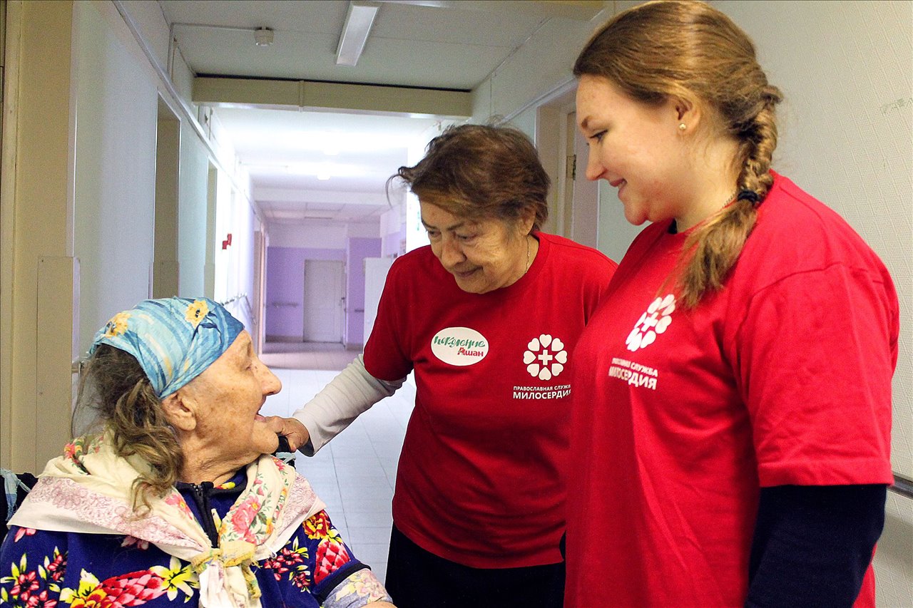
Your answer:
[[[178,484],[194,517],[214,530],[245,485],[242,469],[225,484]],[[210,533],[210,538],[214,538]],[[265,608],[356,608],[387,599],[383,585],[356,560],[326,511],[304,521],[285,547],[253,569]],[[190,564],[130,536],[13,527],[0,548],[0,605],[120,608],[199,604]]]

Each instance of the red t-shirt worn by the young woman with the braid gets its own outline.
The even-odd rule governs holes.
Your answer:
[[[635,239],[575,351],[569,608],[741,606],[760,487],[893,480],[876,254],[775,176],[725,288],[687,310],[669,225]]]

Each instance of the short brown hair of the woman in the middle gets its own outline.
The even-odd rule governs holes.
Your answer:
[[[551,180],[530,139],[512,127],[449,127],[428,143],[425,158],[400,167],[396,177],[423,203],[459,217],[516,220],[531,212],[538,230],[549,216]]]

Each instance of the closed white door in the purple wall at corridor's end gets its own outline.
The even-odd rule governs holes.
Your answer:
[[[342,262],[304,261],[303,341],[342,342],[344,273]]]

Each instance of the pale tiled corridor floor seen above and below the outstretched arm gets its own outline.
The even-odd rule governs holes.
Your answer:
[[[357,353],[348,354],[351,361]],[[267,362],[268,355],[263,359]],[[273,372],[282,381],[282,391],[267,399],[260,410],[264,415],[289,416],[337,373],[277,367]],[[381,581],[393,523],[390,505],[396,463],[413,404],[415,384],[410,378],[394,396],[359,416],[317,455],[299,455],[296,459],[299,472],[327,503],[327,512],[342,538]]]

